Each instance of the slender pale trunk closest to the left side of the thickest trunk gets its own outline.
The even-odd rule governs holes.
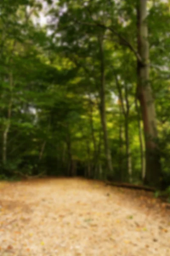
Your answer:
[[[139,143],[140,143],[140,153],[141,153],[141,173],[142,173],[142,180],[144,181],[144,178],[146,175],[145,155],[144,155],[144,145],[143,145],[143,139],[142,139],[142,127],[141,127],[141,122],[140,122],[140,113],[139,113],[137,99],[135,99],[135,106],[136,106],[138,129],[139,129]]]

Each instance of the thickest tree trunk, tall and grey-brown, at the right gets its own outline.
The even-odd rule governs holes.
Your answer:
[[[146,176],[145,183],[153,186],[160,185],[161,164],[156,140],[156,111],[149,83],[149,42],[147,29],[147,0],[139,0],[137,8],[138,52],[142,61],[137,63],[137,94],[141,105],[144,124],[144,138],[146,148]]]

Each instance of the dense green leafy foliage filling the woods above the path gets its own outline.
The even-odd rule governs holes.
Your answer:
[[[46,3],[50,21],[40,26],[36,17],[42,14],[42,4],[34,0],[0,2],[0,177],[15,176],[17,171],[23,175],[42,171],[74,175],[75,166],[77,173],[86,177],[105,177],[99,49],[103,37],[108,144],[114,169],[111,178],[129,179],[127,121],[133,183],[142,183],[141,115],[134,103],[136,56],[128,47],[137,50],[135,5],[130,0]],[[150,84],[164,175],[170,172],[168,8],[161,1],[150,3],[147,17]],[[164,187],[167,194],[168,185]]]

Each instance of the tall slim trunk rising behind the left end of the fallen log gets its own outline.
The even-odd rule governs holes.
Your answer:
[[[105,110],[105,63],[104,63],[104,50],[103,50],[103,36],[98,37],[99,40],[99,51],[100,51],[100,115],[103,130],[103,139],[105,146],[105,157],[107,160],[108,174],[113,174],[113,165],[111,159],[111,152],[108,143],[108,131],[106,122],[106,110]]]

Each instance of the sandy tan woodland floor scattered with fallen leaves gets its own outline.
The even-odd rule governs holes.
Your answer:
[[[0,183],[0,256],[170,256],[152,193],[79,178]]]

